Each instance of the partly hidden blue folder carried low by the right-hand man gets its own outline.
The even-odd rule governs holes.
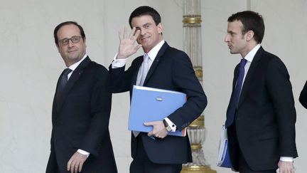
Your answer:
[[[227,128],[225,128],[225,125],[222,126],[222,132],[220,136],[220,145],[217,154],[217,166],[232,168],[232,163],[230,161],[230,154],[228,150]]]

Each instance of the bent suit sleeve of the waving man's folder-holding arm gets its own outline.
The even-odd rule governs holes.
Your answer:
[[[203,112],[207,105],[207,97],[188,55],[180,51],[174,56],[176,58],[173,58],[172,80],[176,88],[187,95],[187,102],[168,115],[168,119],[177,126],[178,130],[183,130]]]

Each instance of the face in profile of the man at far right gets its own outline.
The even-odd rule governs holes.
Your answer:
[[[228,22],[225,42],[230,49],[230,53],[240,53],[244,57],[249,51],[247,51],[247,34],[242,35],[242,28],[243,24],[241,21]]]

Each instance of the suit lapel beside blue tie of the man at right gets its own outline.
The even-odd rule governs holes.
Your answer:
[[[257,53],[255,54],[251,65],[249,66],[249,70],[247,72],[247,75],[245,77],[245,80],[244,80],[244,83],[243,83],[243,86],[242,86],[242,90],[241,90],[241,94],[240,94],[240,97],[239,97],[239,103],[237,105],[237,108],[239,108],[240,105],[242,105],[242,103],[243,103],[243,101],[244,101],[244,99],[247,95],[249,85],[252,83],[254,72],[257,69],[257,65],[259,63],[259,60],[262,57],[263,52],[264,52],[264,49],[262,47],[260,47],[259,50],[257,51]]]

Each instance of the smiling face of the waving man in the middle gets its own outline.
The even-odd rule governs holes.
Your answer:
[[[149,15],[134,17],[131,21],[131,26],[140,30],[140,35],[136,41],[142,45],[145,53],[151,51],[160,41],[162,41],[162,25],[154,22],[154,19]]]

